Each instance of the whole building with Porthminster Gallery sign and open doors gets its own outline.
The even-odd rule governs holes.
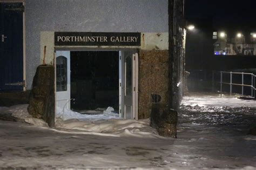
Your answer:
[[[34,104],[50,95],[53,113],[112,106],[122,118],[143,119],[152,103],[174,106],[183,93],[186,32],[184,2],[173,2],[1,0],[0,91],[31,90]],[[44,76],[35,80],[36,72]],[[54,92],[46,94],[37,85],[49,79]]]

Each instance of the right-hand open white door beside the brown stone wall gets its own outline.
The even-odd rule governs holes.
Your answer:
[[[138,119],[138,53],[133,50],[120,52],[119,102],[120,101],[122,101],[119,106],[120,117],[125,119]]]

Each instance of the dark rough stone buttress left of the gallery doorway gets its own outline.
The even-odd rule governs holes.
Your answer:
[[[33,78],[28,112],[55,126],[55,69],[52,65],[39,65]]]

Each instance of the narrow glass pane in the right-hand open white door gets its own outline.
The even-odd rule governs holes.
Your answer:
[[[125,59],[125,96],[131,96],[132,94],[132,59],[127,57]]]

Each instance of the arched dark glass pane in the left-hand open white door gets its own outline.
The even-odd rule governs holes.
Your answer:
[[[67,91],[68,68],[67,58],[59,56],[56,58],[56,91]]]

